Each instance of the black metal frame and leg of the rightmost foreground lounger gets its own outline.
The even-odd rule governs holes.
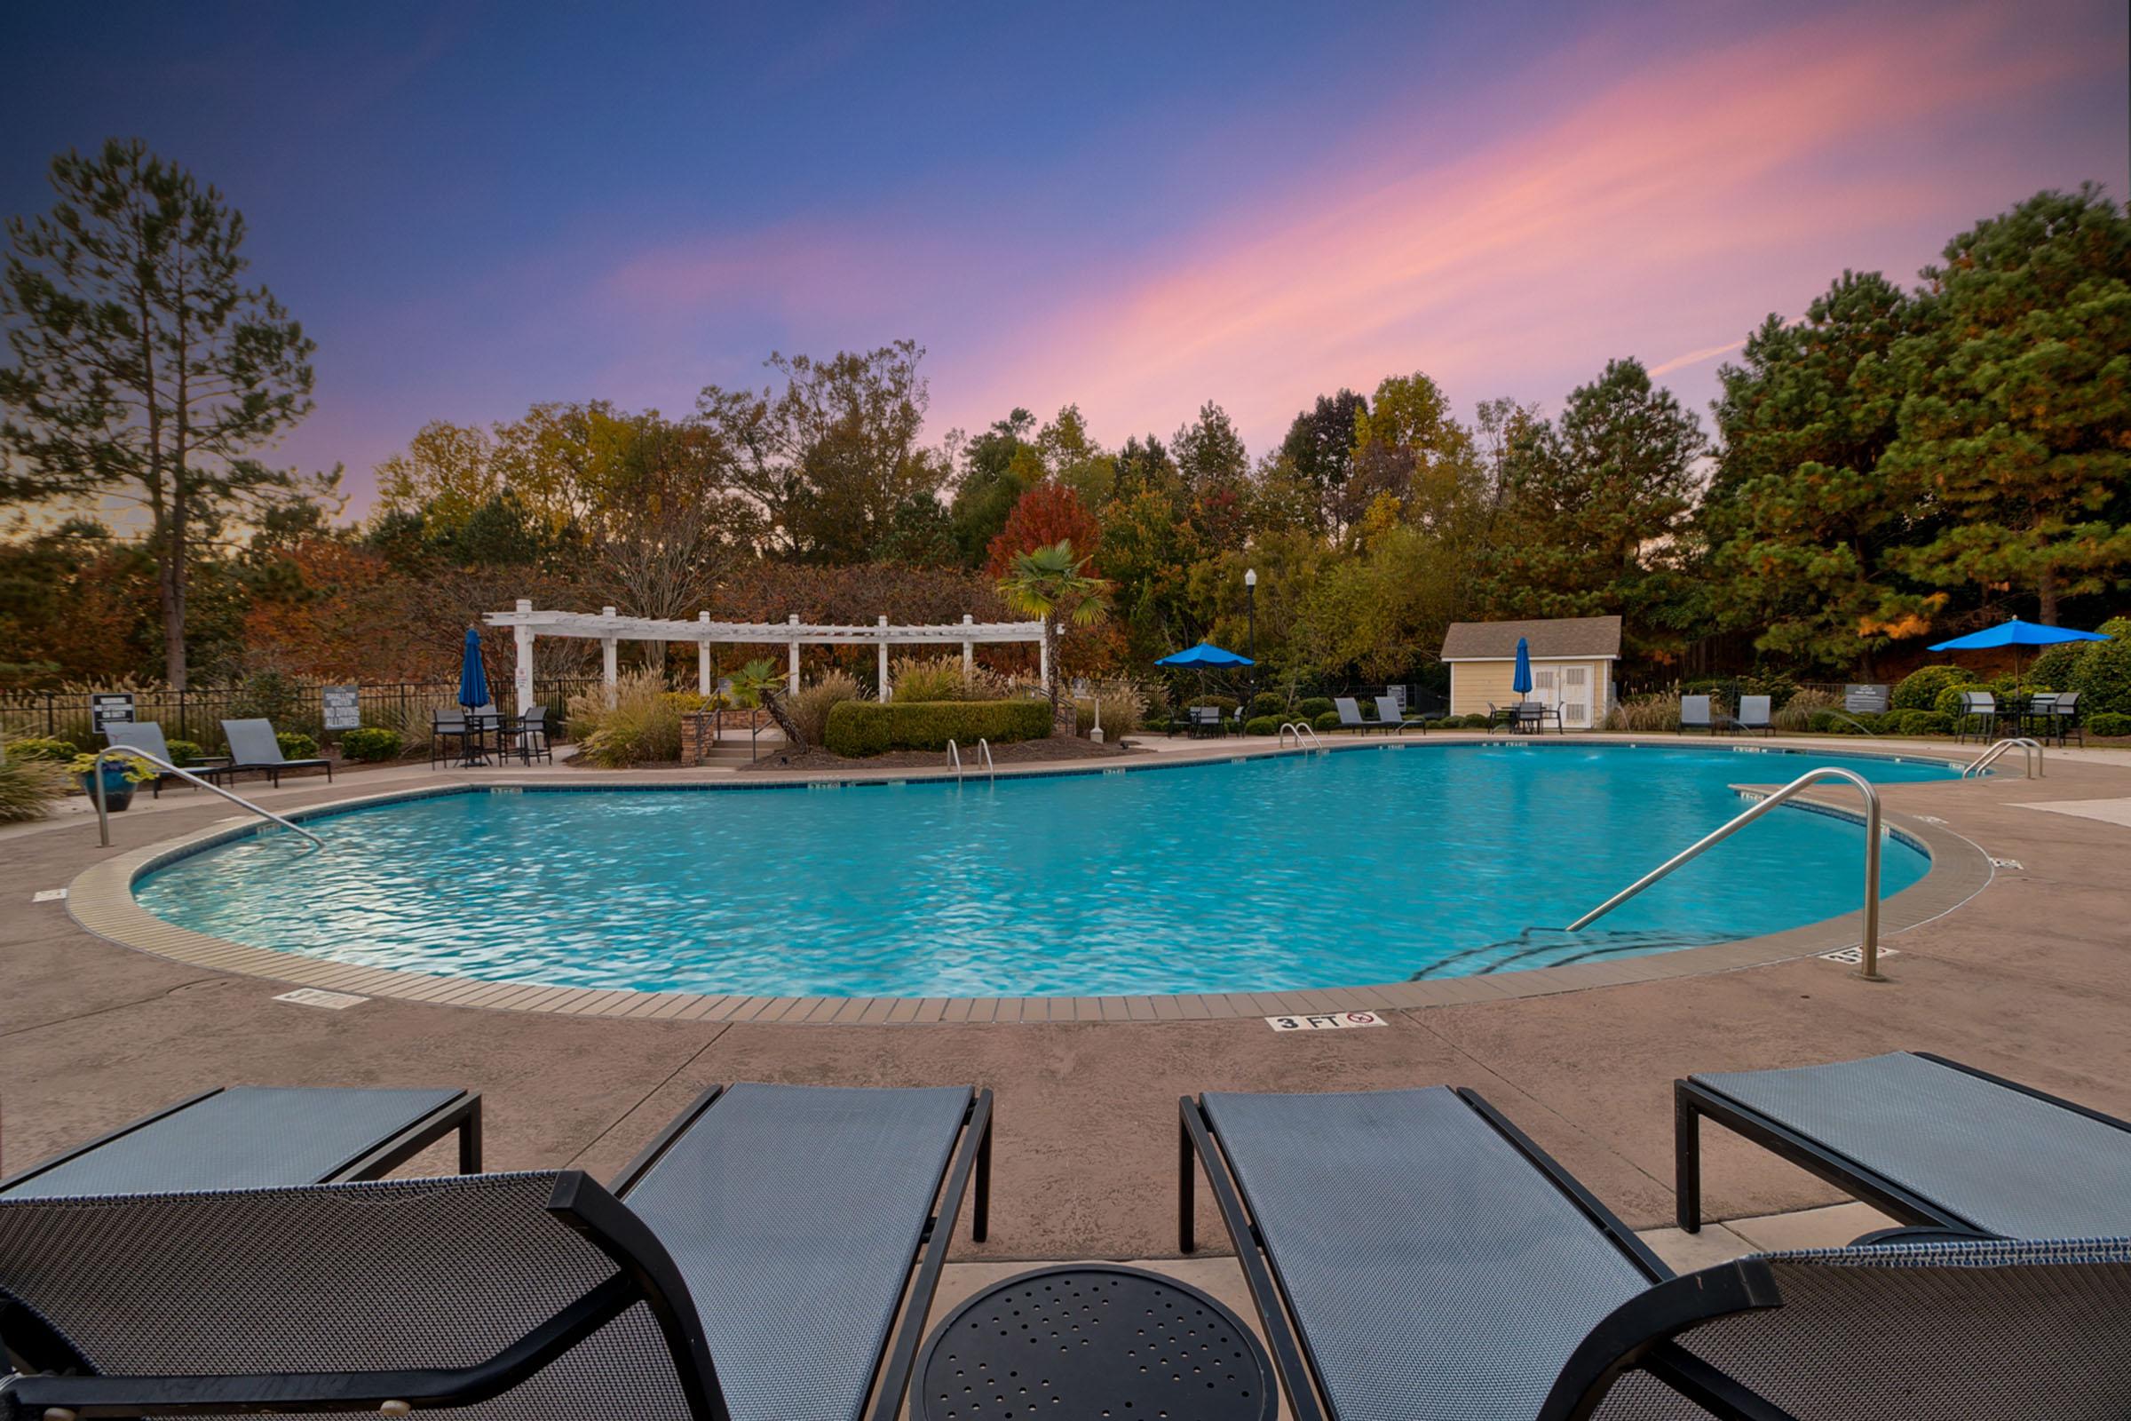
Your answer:
[[[1922,1061],[1933,1065],[1946,1065],[1965,1076],[1975,1076],[1995,1087],[2007,1091],[2018,1091],[2044,1104],[2056,1106],[2061,1110],[2071,1110],[2073,1114],[2084,1114],[2101,1125],[2112,1125],[2122,1131],[2131,1131],[2131,1121],[2118,1121],[2112,1114],[2091,1110],[2078,1101],[2037,1091],[2035,1087],[2024,1087],[2018,1080],[2005,1080],[2003,1076],[1992,1076],[1986,1069],[1965,1065],[1961,1061],[1950,1061],[1946,1057],[1933,1055],[1929,1050],[1912,1052]],[[1754,1110],[1720,1091],[1713,1091],[1692,1078],[1681,1078],[1673,1082],[1673,1195],[1675,1195],[1675,1216],[1681,1229],[1696,1234],[1703,1227],[1703,1142],[1701,1142],[1701,1121],[1711,1118],[1724,1129],[1752,1140],[1771,1155],[1777,1155],[1801,1170],[1835,1185],[1854,1199],[1871,1204],[1882,1214],[1899,1219],[1903,1225],[1922,1227],[1935,1234],[1950,1234],[1961,1238],[1992,1238],[1992,1234],[1978,1223],[1963,1219],[1943,1204],[1907,1189],[1892,1178],[1880,1174],[1871,1165],[1865,1165],[1848,1155],[1831,1150],[1811,1136],[1805,1136],[1782,1121]],[[1907,1231],[1907,1229],[1903,1229]],[[1892,1229],[1882,1229],[1882,1234],[1892,1234]]]

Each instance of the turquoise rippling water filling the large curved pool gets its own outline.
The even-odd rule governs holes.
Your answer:
[[[232,942],[499,982],[904,997],[1357,986],[1852,912],[1862,829],[1779,810],[1594,929],[1545,931],[1737,814],[1730,784],[1826,763],[1877,782],[1952,775],[1724,746],[1383,746],[963,786],[469,793],[313,818],[324,854],[286,833],[239,837],[134,893]],[[1924,869],[1890,842],[1882,891]]]

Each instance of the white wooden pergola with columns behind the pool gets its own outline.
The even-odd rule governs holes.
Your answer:
[[[705,697],[712,692],[710,648],[716,643],[774,646],[791,650],[791,671],[786,673],[793,695],[799,695],[799,648],[801,646],[878,646],[880,648],[880,699],[889,699],[889,648],[891,646],[955,646],[961,643],[963,671],[976,665],[978,643],[1034,641],[1036,663],[1042,682],[1051,684],[1051,648],[1044,646],[1042,622],[978,622],[963,616],[961,622],[891,626],[889,618],[865,626],[831,626],[801,622],[793,614],[786,622],[712,622],[710,614],[693,622],[667,618],[618,616],[614,607],[590,611],[541,611],[524,597],[516,611],[490,611],[484,618],[490,626],[509,626],[518,641],[518,705],[533,703],[533,641],[537,637],[584,637],[597,639],[605,652],[605,680],[618,680],[618,648],[622,641],[695,641],[695,680]]]

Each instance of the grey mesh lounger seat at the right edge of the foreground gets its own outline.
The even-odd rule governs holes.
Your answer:
[[[1701,1118],[1907,1225],[2005,1238],[2131,1234],[2131,1123],[1897,1050],[1673,1082],[1679,1227],[1701,1227]]]

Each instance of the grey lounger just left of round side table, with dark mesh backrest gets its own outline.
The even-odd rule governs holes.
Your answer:
[[[989,1123],[989,1091],[744,1084],[614,1193],[565,1170],[0,1199],[0,1297],[87,1372],[0,1383],[0,1417],[893,1419],[972,1174],[985,1236]]]

